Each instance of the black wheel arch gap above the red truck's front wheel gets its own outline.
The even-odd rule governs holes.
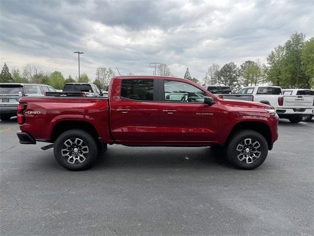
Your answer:
[[[267,144],[268,144],[268,149],[271,150],[273,147],[273,143],[272,143],[272,135],[271,135],[271,130],[270,127],[262,121],[240,121],[238,123],[236,123],[228,138],[227,138],[227,142],[229,141],[229,139],[232,137],[232,135],[238,131],[238,130],[242,130],[242,129],[250,129],[250,130],[254,130],[260,134],[262,134],[262,136],[265,138]]]

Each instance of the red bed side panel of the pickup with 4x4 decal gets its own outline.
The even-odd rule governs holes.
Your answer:
[[[111,140],[106,98],[22,97],[19,102],[27,104],[24,111],[26,122],[20,125],[20,129],[36,140],[50,140],[53,127],[66,120],[87,121],[104,142]],[[40,114],[26,114],[27,111]]]

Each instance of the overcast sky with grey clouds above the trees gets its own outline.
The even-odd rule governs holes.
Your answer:
[[[150,62],[201,79],[212,63],[264,62],[295,31],[314,36],[313,0],[0,0],[0,11],[1,66],[75,77],[82,51],[92,80],[98,66],[151,75]]]

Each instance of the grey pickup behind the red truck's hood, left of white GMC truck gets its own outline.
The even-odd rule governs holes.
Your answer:
[[[235,99],[244,101],[254,101],[254,96],[250,94],[236,94],[233,93],[230,86],[224,85],[205,85],[204,89],[208,90],[210,93],[214,94],[216,97],[222,99]]]

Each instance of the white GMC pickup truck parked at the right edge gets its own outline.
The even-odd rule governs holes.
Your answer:
[[[253,95],[255,102],[273,106],[279,118],[288,118],[291,123],[314,114],[314,96],[283,95],[278,86],[251,86],[241,89],[238,94]]]

